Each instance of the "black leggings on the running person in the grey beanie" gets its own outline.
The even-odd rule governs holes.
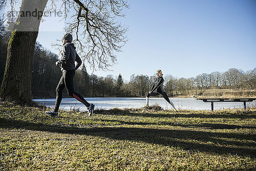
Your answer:
[[[76,93],[74,90],[75,74],[76,74],[75,70],[67,70],[62,73],[60,82],[56,88],[57,96],[56,96],[55,107],[54,107],[55,112],[58,112],[58,109],[60,107],[61,100],[62,100],[62,92],[65,87],[67,89],[67,93],[69,96],[77,99],[82,104],[84,104],[86,107],[90,106],[90,104],[79,93]]]

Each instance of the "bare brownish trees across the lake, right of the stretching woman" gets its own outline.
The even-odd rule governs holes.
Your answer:
[[[204,90],[229,89],[234,91],[256,89],[256,68],[244,72],[230,68],[226,72],[203,73],[195,78],[177,78],[166,75],[165,88],[170,96],[195,95],[201,96]]]

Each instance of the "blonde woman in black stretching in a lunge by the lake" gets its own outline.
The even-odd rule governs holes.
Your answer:
[[[157,90],[157,91],[155,91]],[[172,103],[172,101],[170,101],[170,99],[168,98],[166,91],[163,88],[163,74],[161,70],[157,70],[157,79],[154,81],[154,84],[151,88],[151,90],[147,93],[146,96],[146,106],[148,107],[148,100],[149,100],[149,96],[163,96],[164,99],[166,99],[166,101],[172,105],[172,107],[176,110],[176,108],[174,107],[174,104]],[[177,110],[176,110],[177,111]]]

